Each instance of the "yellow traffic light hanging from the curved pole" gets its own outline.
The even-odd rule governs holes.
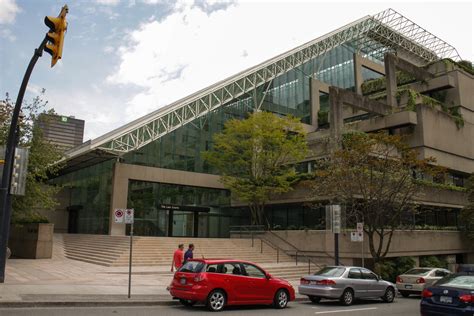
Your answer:
[[[53,67],[58,59],[61,59],[63,53],[64,33],[67,29],[66,14],[68,13],[67,5],[62,7],[58,17],[46,16],[44,23],[49,27],[49,32],[46,34],[48,43],[44,50],[51,54],[51,67]]]

